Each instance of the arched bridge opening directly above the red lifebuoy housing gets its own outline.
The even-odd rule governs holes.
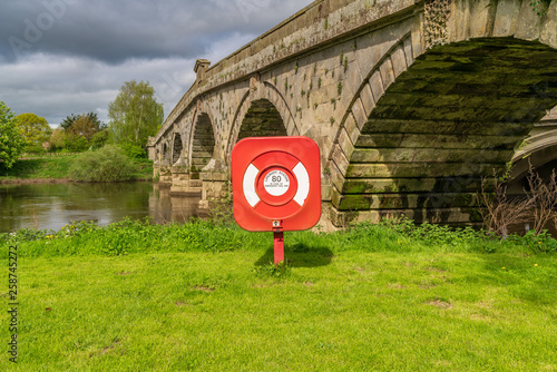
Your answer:
[[[237,140],[246,137],[286,136],[284,121],[278,110],[267,99],[252,102],[247,110]]]

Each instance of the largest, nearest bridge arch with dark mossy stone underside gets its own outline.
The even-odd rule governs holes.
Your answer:
[[[333,204],[375,219],[462,221],[480,178],[504,169],[557,104],[557,50],[477,38],[409,65],[405,38],[371,69],[344,117],[331,155]]]

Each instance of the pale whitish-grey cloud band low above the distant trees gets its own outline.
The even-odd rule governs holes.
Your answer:
[[[147,80],[165,112],[194,81],[194,60],[130,60],[118,66],[90,59],[36,55],[20,63],[0,66],[0,100],[16,114],[35,112],[50,124],[70,114],[95,111],[106,121],[108,104],[124,81]],[[185,67],[188,67],[187,69]],[[190,71],[190,72],[189,72]]]

